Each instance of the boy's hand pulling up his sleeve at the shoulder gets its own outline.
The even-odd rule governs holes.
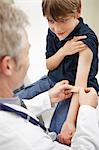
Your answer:
[[[86,38],[87,36],[75,36],[73,39],[67,41],[60,49],[64,57],[85,50],[87,46],[81,40]]]

